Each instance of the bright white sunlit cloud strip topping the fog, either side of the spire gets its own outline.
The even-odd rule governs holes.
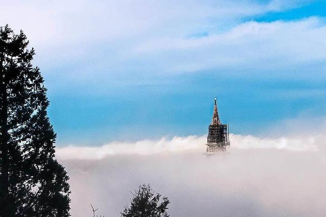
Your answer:
[[[318,136],[258,138],[255,136],[230,135],[232,148],[235,149],[282,149],[292,151],[317,150],[321,141]],[[152,155],[171,152],[198,151],[205,152],[206,136],[163,137],[159,140],[141,140],[137,142],[112,142],[103,146],[70,145],[58,147],[58,159],[100,160],[108,156],[119,155]]]

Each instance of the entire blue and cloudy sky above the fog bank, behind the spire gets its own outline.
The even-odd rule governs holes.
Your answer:
[[[36,49],[58,146],[203,135],[214,97],[235,134],[326,116],[325,1],[2,6],[2,25]]]

